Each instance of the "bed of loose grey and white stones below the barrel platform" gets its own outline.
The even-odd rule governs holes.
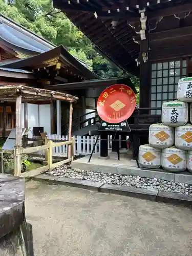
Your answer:
[[[166,181],[156,178],[143,178],[140,176],[132,175],[97,173],[93,172],[92,170],[72,169],[69,165],[62,165],[57,167],[53,169],[52,172],[46,172],[45,175],[192,195],[192,185],[186,183]]]

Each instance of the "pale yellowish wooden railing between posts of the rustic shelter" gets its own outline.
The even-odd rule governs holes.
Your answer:
[[[57,163],[53,163],[53,148],[63,145],[69,145],[68,146],[68,159],[62,160]],[[20,155],[22,154],[30,154],[34,152],[38,152],[41,150],[45,150],[45,162],[47,165],[30,170],[25,173],[21,173],[21,166],[20,162],[16,161],[16,158],[20,159]],[[45,172],[46,170],[52,170],[53,168],[56,168],[62,164],[69,163],[73,161],[74,159],[74,139],[72,138],[70,141],[62,141],[58,143],[54,143],[52,140],[47,141],[46,145],[42,146],[35,146],[35,147],[27,147],[18,149],[15,147],[15,167],[14,167],[14,176],[22,176],[22,177],[32,177],[35,175],[38,175],[40,173]],[[17,164],[18,163],[18,164]]]

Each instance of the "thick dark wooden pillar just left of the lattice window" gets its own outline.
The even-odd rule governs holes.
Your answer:
[[[151,65],[148,56],[149,38],[145,31],[146,39],[140,41],[140,86],[139,86],[139,108],[149,108],[151,101]],[[147,61],[145,57],[148,57]],[[147,113],[147,111],[142,112]]]

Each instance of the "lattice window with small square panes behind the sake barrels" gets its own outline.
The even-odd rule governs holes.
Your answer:
[[[182,77],[186,77],[186,60],[153,63],[151,107],[159,108],[165,101],[176,100],[178,81]],[[151,114],[161,114],[161,110],[152,110]]]

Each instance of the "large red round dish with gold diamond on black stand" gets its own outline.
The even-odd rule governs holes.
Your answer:
[[[114,84],[106,88],[97,101],[100,118],[109,123],[119,123],[128,119],[136,107],[134,91],[124,84]]]

